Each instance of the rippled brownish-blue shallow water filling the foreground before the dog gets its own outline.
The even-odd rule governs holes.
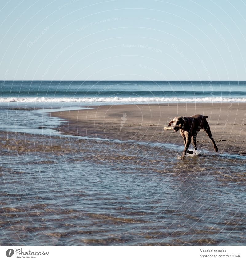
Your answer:
[[[2,132],[1,245],[245,245],[243,157]]]

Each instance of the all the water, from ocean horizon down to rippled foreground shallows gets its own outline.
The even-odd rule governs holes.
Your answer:
[[[1,245],[245,245],[245,157],[65,135],[51,111],[246,102],[246,82],[2,81]],[[166,151],[169,153],[166,153]]]

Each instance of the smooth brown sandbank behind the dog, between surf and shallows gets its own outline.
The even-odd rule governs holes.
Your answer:
[[[92,109],[89,109],[92,108]],[[135,104],[91,106],[88,110],[51,113],[65,119],[59,131],[73,136],[100,137],[123,141],[183,144],[179,132],[163,131],[176,116],[208,115],[212,135],[219,153],[246,155],[246,104]],[[192,144],[190,145],[192,148]],[[199,149],[213,151],[212,142],[201,130]]]

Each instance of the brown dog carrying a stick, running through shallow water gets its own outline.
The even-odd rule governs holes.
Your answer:
[[[172,121],[169,122],[168,126],[170,127],[171,123],[173,123],[172,129],[176,132],[179,130],[181,136],[184,139],[185,150],[183,152],[183,156],[185,156],[186,153],[193,154],[193,151],[188,150],[189,145],[191,143],[191,139],[194,144],[194,149],[195,150],[197,149],[196,148],[196,136],[197,136],[197,133],[200,131],[200,129],[204,129],[204,131],[207,133],[208,137],[212,140],[214,150],[216,152],[218,152],[218,148],[214,142],[214,139],[212,137],[212,133],[210,131],[210,127],[208,125],[206,118],[208,118],[208,116],[203,116],[203,115],[197,114],[197,115],[192,115],[190,117],[175,117]]]

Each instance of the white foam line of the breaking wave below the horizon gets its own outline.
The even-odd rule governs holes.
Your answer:
[[[246,98],[223,98],[223,97],[205,97],[205,98],[162,98],[162,97],[101,97],[101,98],[45,98],[45,97],[11,97],[0,98],[0,102],[122,102],[122,103],[193,103],[193,102],[246,102]]]

